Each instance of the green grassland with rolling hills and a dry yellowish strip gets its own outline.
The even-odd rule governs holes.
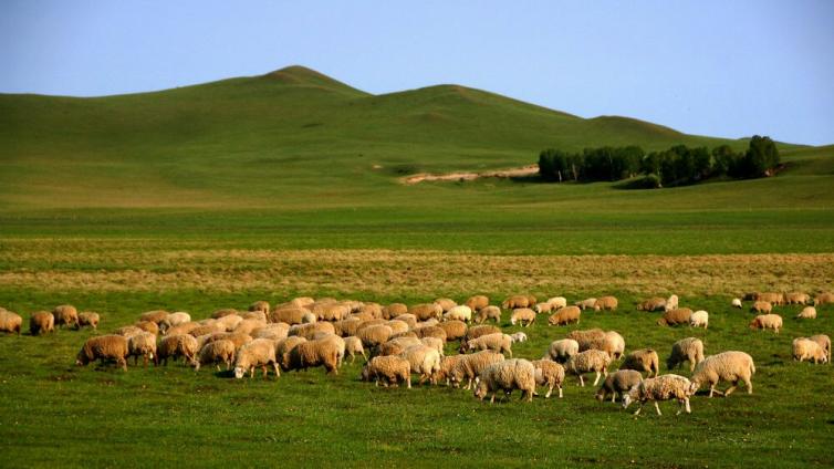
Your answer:
[[[621,311],[583,329],[617,330],[661,362],[696,335],[758,368],[752,396],[634,418],[573,381],[563,399],[488,405],[444,386],[374,388],[358,363],[267,381],[123,373],[73,366],[92,331],[0,336],[3,466],[831,467],[832,367],[793,363],[790,344],[833,335],[834,306],[806,322],[780,308],[774,335],[729,300],[834,289],[834,146],[781,145],[773,178],[663,190],[399,180],[528,165],[551,146],[677,143],[747,145],[455,85],[374,96],[300,67],[127,96],[0,95],[0,305],[27,320],[72,303],[106,332],[153,309],[201,319],[295,295],[613,293]],[[669,292],[708,310],[709,331],[635,311]],[[539,358],[572,329],[539,321],[515,354]]]

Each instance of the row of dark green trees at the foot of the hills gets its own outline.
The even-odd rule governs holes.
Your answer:
[[[770,176],[780,164],[779,149],[769,137],[750,139],[743,153],[721,145],[676,145],[646,154],[638,146],[585,148],[582,153],[545,149],[539,155],[539,174],[551,181],[600,181],[645,177],[639,187],[681,186],[712,177],[737,179]]]

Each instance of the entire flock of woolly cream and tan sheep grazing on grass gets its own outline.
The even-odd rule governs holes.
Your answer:
[[[752,301],[752,310],[760,314],[750,323],[753,329],[772,329],[776,333],[782,319],[772,313],[773,305],[811,303],[804,293],[751,293],[744,296]],[[834,294],[821,293],[806,305],[797,317],[816,317],[815,306],[834,303]],[[529,361],[513,357],[512,344],[525,341],[527,334],[504,334],[501,323],[502,310],[511,311],[510,323],[529,326],[541,315],[548,315],[548,324],[580,323],[582,312],[615,311],[618,302],[614,296],[586,299],[569,305],[563,296],[538,302],[532,295],[513,295],[501,306],[491,305],[487,296],[469,298],[463,304],[450,299],[437,299],[432,303],[407,306],[393,303],[337,301],[335,299],[296,298],[270,308],[264,301],[251,304],[246,312],[226,309],[211,317],[192,321],[185,312],[168,313],[149,311],[143,313],[133,325],[126,325],[107,335],[88,338],[76,356],[79,365],[91,362],[115,362],[127,369],[127,359],[134,364],[143,358],[157,365],[183,357],[195,371],[201,366],[225,365],[233,369],[236,378],[246,374],[253,377],[256,368],[267,376],[271,368],[275,376],[281,371],[307,369],[322,366],[327,373],[338,374],[345,357],[351,361],[362,355],[365,364],[361,378],[375,385],[411,387],[411,375],[419,383],[465,387],[476,397],[490,396],[494,402],[498,393],[509,396],[520,389],[522,399],[532,400],[536,386],[545,386],[545,397],[557,389],[562,397],[565,376],[576,376],[581,386],[584,375],[594,373],[593,385],[604,377],[596,393],[600,400],[611,396],[621,397],[623,407],[633,402],[643,406],[654,402],[658,414],[658,400],[676,399],[678,414],[690,411],[689,397],[705,385],[709,397],[719,393],[731,394],[739,383],[752,393],[752,376],[755,365],[752,357],[739,351],[729,351],[705,357],[703,342],[697,337],[677,341],[666,361],[668,369],[689,362],[689,378],[676,374],[659,374],[659,356],[651,348],[633,351],[625,355],[625,340],[616,331],[600,329],[576,330],[565,338],[554,341],[541,359]],[[732,305],[742,308],[742,299],[733,299]],[[637,306],[640,311],[661,312],[659,325],[689,324],[708,327],[709,314],[679,308],[678,296],[651,298]],[[486,324],[493,322],[496,325]],[[0,308],[0,331],[21,332],[22,317]],[[51,333],[56,326],[97,329],[100,316],[92,312],[79,313],[71,305],[56,306],[52,312],[37,312],[30,316],[32,335]],[[447,343],[459,341],[459,354],[446,355]],[[369,359],[368,353],[369,352]],[[796,337],[793,341],[793,358],[813,363],[831,362],[831,338],[827,335]],[[619,369],[608,373],[614,361],[622,359]],[[643,374],[646,374],[644,377]],[[720,382],[730,387],[720,392]]]

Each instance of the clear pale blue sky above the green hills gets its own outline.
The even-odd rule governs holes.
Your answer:
[[[0,92],[105,95],[301,64],[583,117],[834,143],[834,1],[0,2]]]

